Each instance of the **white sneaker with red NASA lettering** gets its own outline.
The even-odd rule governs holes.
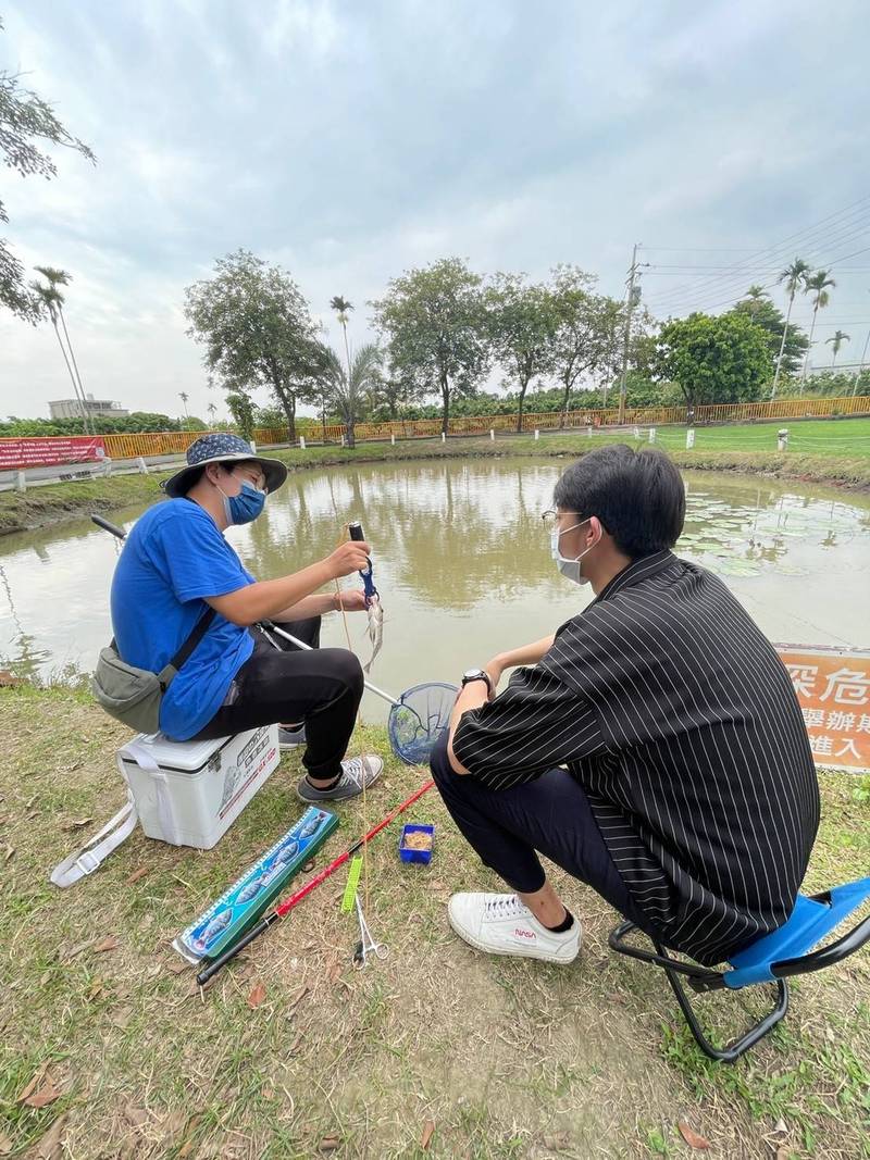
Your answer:
[[[516,894],[454,894],[447,908],[461,938],[488,955],[520,955],[545,963],[573,963],[580,950],[580,922],[556,934]]]

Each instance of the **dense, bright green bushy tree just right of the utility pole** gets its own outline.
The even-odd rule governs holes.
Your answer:
[[[709,403],[757,399],[770,374],[766,336],[735,314],[689,314],[661,327],[651,356],[654,376],[682,391],[689,411]]]

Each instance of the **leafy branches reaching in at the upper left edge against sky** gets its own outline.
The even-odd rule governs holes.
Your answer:
[[[0,30],[2,27],[0,21]],[[88,146],[67,132],[48,101],[22,88],[20,74],[0,70],[0,154],[6,165],[22,177],[36,174],[50,181],[57,176],[57,166],[41,147],[43,143],[73,150],[96,164]],[[0,222],[8,220],[0,200]],[[24,267],[5,238],[0,238],[0,306],[32,324],[45,309],[43,299],[26,285]]]

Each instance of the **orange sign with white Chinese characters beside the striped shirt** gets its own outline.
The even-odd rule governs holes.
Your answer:
[[[817,766],[870,773],[870,651],[777,645]]]

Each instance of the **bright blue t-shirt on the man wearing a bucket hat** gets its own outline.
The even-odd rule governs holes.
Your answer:
[[[126,537],[111,581],[121,659],[159,673],[205,612],[204,596],[254,583],[208,512],[187,499],[157,503]],[[254,651],[246,628],[218,612],[160,704],[160,728],[187,741],[215,716]]]

